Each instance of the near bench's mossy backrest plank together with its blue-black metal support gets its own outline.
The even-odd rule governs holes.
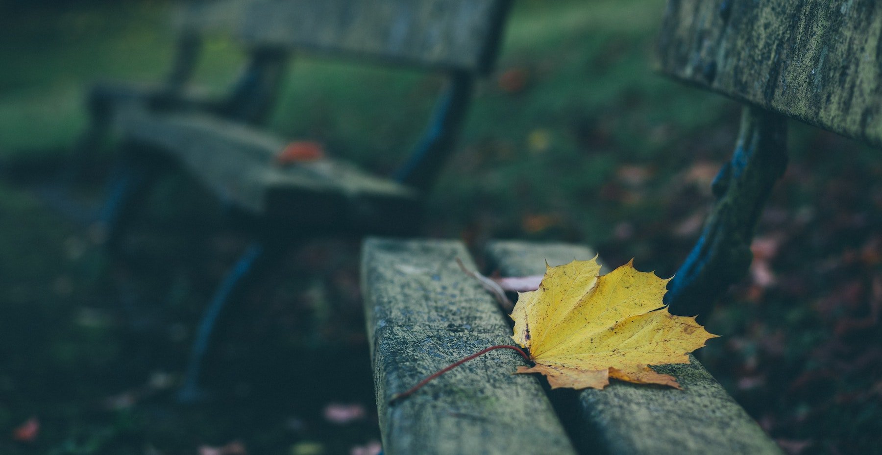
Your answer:
[[[744,277],[753,230],[787,164],[787,119],[882,145],[882,4],[874,0],[670,0],[659,69],[744,103],[732,160],[690,256],[669,285],[694,315]]]

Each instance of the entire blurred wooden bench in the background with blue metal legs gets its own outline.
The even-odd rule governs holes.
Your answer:
[[[255,243],[209,304],[194,341],[183,398],[197,393],[199,364],[225,303],[295,242],[317,235],[414,232],[422,196],[446,158],[472,98],[475,78],[497,54],[509,0],[221,0],[183,14],[183,38],[159,90],[101,86],[93,128],[123,138],[123,166],[104,213],[113,248],[153,181],[184,168],[231,208]],[[250,55],[243,77],[221,102],[194,99],[186,80],[200,36],[232,31]],[[437,108],[415,151],[392,176],[332,157],[280,165],[287,141],[262,123],[294,52],[394,64],[445,76]],[[369,112],[364,113],[370,116]]]

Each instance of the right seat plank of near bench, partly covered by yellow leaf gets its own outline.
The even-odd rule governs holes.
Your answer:
[[[527,242],[490,243],[487,254],[504,275],[514,276],[542,273],[545,260],[559,265],[594,257],[593,250],[578,245]],[[587,445],[585,451],[599,446],[609,453],[654,455],[781,453],[694,357],[655,369],[677,377],[684,390],[613,382],[602,391],[579,393],[587,435],[579,444]]]

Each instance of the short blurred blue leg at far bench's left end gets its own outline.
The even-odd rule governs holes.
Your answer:
[[[143,205],[150,187],[161,173],[158,158],[128,152],[111,175],[108,198],[101,208],[101,225],[108,250],[118,252],[120,238],[132,216]]]

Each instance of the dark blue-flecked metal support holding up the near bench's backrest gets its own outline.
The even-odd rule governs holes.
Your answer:
[[[714,179],[714,208],[689,257],[668,285],[671,313],[704,315],[751,265],[751,241],[763,205],[787,167],[783,116],[744,108],[732,160]]]

